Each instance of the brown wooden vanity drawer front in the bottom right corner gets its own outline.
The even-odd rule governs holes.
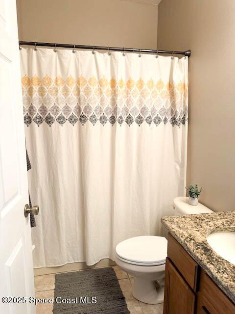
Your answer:
[[[197,314],[235,314],[235,304],[202,270]]]

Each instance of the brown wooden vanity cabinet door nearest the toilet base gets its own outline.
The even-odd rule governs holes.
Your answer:
[[[166,259],[165,265],[165,290],[164,290],[164,314],[194,314],[195,295],[187,283]]]

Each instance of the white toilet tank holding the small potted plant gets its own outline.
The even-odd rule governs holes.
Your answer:
[[[174,198],[173,206],[175,209],[175,215],[177,216],[213,212],[213,210],[202,205],[201,203],[198,203],[197,206],[189,205],[188,197],[186,196],[179,196]]]

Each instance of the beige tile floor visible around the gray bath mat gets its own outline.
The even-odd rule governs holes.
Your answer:
[[[132,295],[133,278],[122,271],[118,266],[113,266],[119,285],[126,298],[126,303],[131,314],[163,314],[163,304],[151,305],[136,300]],[[36,298],[53,298],[55,288],[55,275],[34,277]],[[53,304],[38,304],[37,314],[52,314]]]

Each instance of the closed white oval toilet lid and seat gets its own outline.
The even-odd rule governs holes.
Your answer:
[[[163,236],[136,236],[116,246],[117,255],[130,262],[161,264],[167,256],[167,240]]]

